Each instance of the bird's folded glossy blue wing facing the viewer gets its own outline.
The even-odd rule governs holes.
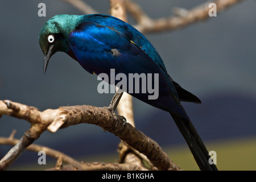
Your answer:
[[[170,97],[170,102],[179,104],[179,97],[174,84],[160,70],[159,65],[143,51],[133,40],[127,39],[122,32],[114,28],[102,26],[93,22],[80,24],[69,35],[69,45],[73,54],[86,71],[90,73],[110,74],[110,69],[115,69],[116,73],[158,73],[159,74],[159,96],[163,97],[160,109],[170,110],[170,105],[164,106],[164,97]],[[141,94],[139,99],[147,102],[145,94]],[[160,98],[159,98],[160,99]],[[159,102],[160,103],[160,102]],[[158,103],[158,104],[159,104]],[[166,108],[163,108],[166,107]]]

